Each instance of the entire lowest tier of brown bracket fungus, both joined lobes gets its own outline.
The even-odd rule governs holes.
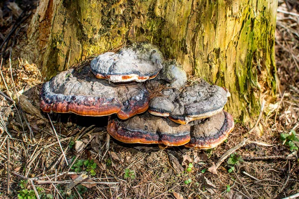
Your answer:
[[[125,143],[164,144],[166,146],[214,148],[221,144],[234,128],[232,116],[221,111],[218,114],[177,124],[168,118],[157,117],[149,113],[135,115],[127,120],[110,119],[108,133]]]

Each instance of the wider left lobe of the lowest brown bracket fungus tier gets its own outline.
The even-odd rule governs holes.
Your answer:
[[[188,124],[180,125],[148,112],[127,120],[110,119],[107,131],[112,137],[125,143],[180,146],[190,140]]]

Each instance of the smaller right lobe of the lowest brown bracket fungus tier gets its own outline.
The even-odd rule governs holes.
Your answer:
[[[185,146],[210,149],[227,139],[230,132],[234,129],[234,120],[229,113],[221,111],[202,121],[192,121],[189,125],[191,139]]]

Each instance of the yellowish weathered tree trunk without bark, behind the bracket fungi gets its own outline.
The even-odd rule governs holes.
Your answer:
[[[226,109],[246,121],[276,92],[278,0],[40,0],[27,59],[44,77],[127,41],[149,41],[184,70],[229,89]],[[28,50],[28,49],[26,49]]]

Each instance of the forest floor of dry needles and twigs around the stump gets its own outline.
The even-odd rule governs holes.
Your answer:
[[[4,44],[0,47],[4,57],[0,66],[1,199],[281,199],[298,195],[297,0],[279,1],[279,94],[265,98],[255,126],[237,123],[227,142],[211,150],[124,144],[107,136],[107,117],[41,113],[38,94],[43,78],[34,63],[15,57],[10,50],[18,48],[18,38],[25,35],[29,20],[22,19],[34,2],[11,2],[0,3],[0,44]],[[31,8],[26,6],[30,3]],[[17,64],[9,66],[9,57]],[[227,156],[222,158],[223,154]],[[84,178],[86,173],[88,180],[71,189],[72,179]]]

